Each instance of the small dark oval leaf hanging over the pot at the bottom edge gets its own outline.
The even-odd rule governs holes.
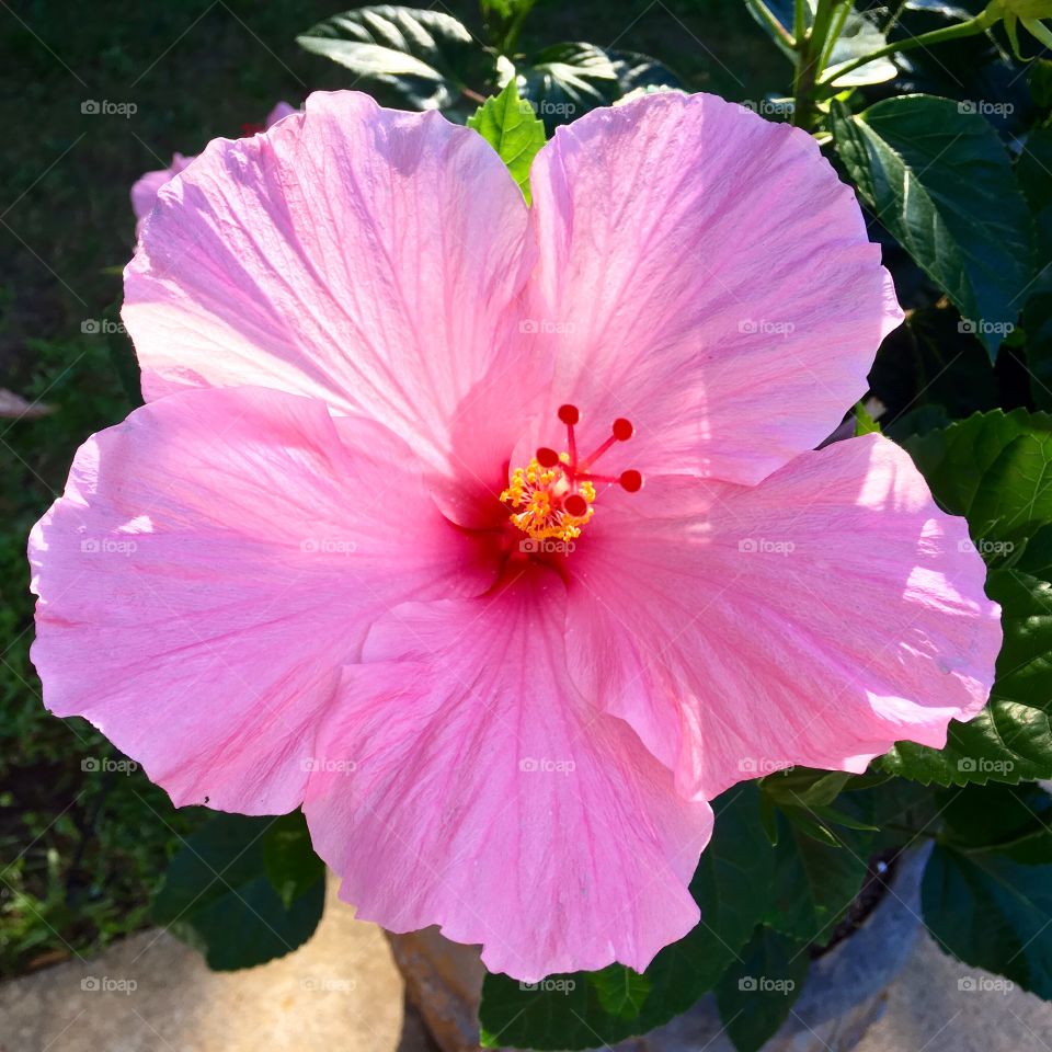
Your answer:
[[[803,991],[811,958],[808,948],[758,927],[741,963],[716,985],[720,1020],[737,1052],[758,1052],[789,1016]]]

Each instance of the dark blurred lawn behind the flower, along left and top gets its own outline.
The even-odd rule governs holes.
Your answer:
[[[480,32],[471,3],[437,3]],[[137,399],[115,322],[134,248],[132,183],[236,137],[274,103],[299,105],[350,73],[301,52],[297,33],[342,9],[318,0],[0,0],[0,388],[53,411],[0,419],[0,976],[85,956],[148,923],[168,856],[196,814],[124,770],[82,720],[41,702],[28,659],[25,537],[58,495],[73,451]],[[521,42],[639,50],[693,90],[782,91],[786,65],[740,0],[548,0]],[[134,103],[128,118],[81,112]],[[149,699],[144,698],[144,705]]]

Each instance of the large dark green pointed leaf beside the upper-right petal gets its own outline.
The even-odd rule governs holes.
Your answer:
[[[993,361],[1033,274],[1033,221],[993,126],[934,95],[857,116],[834,102],[831,119],[859,193]]]

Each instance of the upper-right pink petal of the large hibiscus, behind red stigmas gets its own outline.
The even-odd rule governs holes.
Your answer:
[[[759,481],[833,431],[902,320],[812,136],[714,95],[594,110],[530,185],[553,403],[598,438],[631,420],[644,473]]]

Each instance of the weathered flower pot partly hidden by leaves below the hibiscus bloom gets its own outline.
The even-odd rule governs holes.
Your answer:
[[[887,991],[921,928],[921,879],[928,849],[904,855],[887,894],[849,937],[811,965],[808,984],[765,1052],[848,1052],[883,1014]],[[405,979],[405,993],[442,1052],[476,1052],[478,1008],[485,969],[476,947],[450,942],[437,928],[388,935]],[[733,1052],[722,1033],[716,999],[615,1052]]]

